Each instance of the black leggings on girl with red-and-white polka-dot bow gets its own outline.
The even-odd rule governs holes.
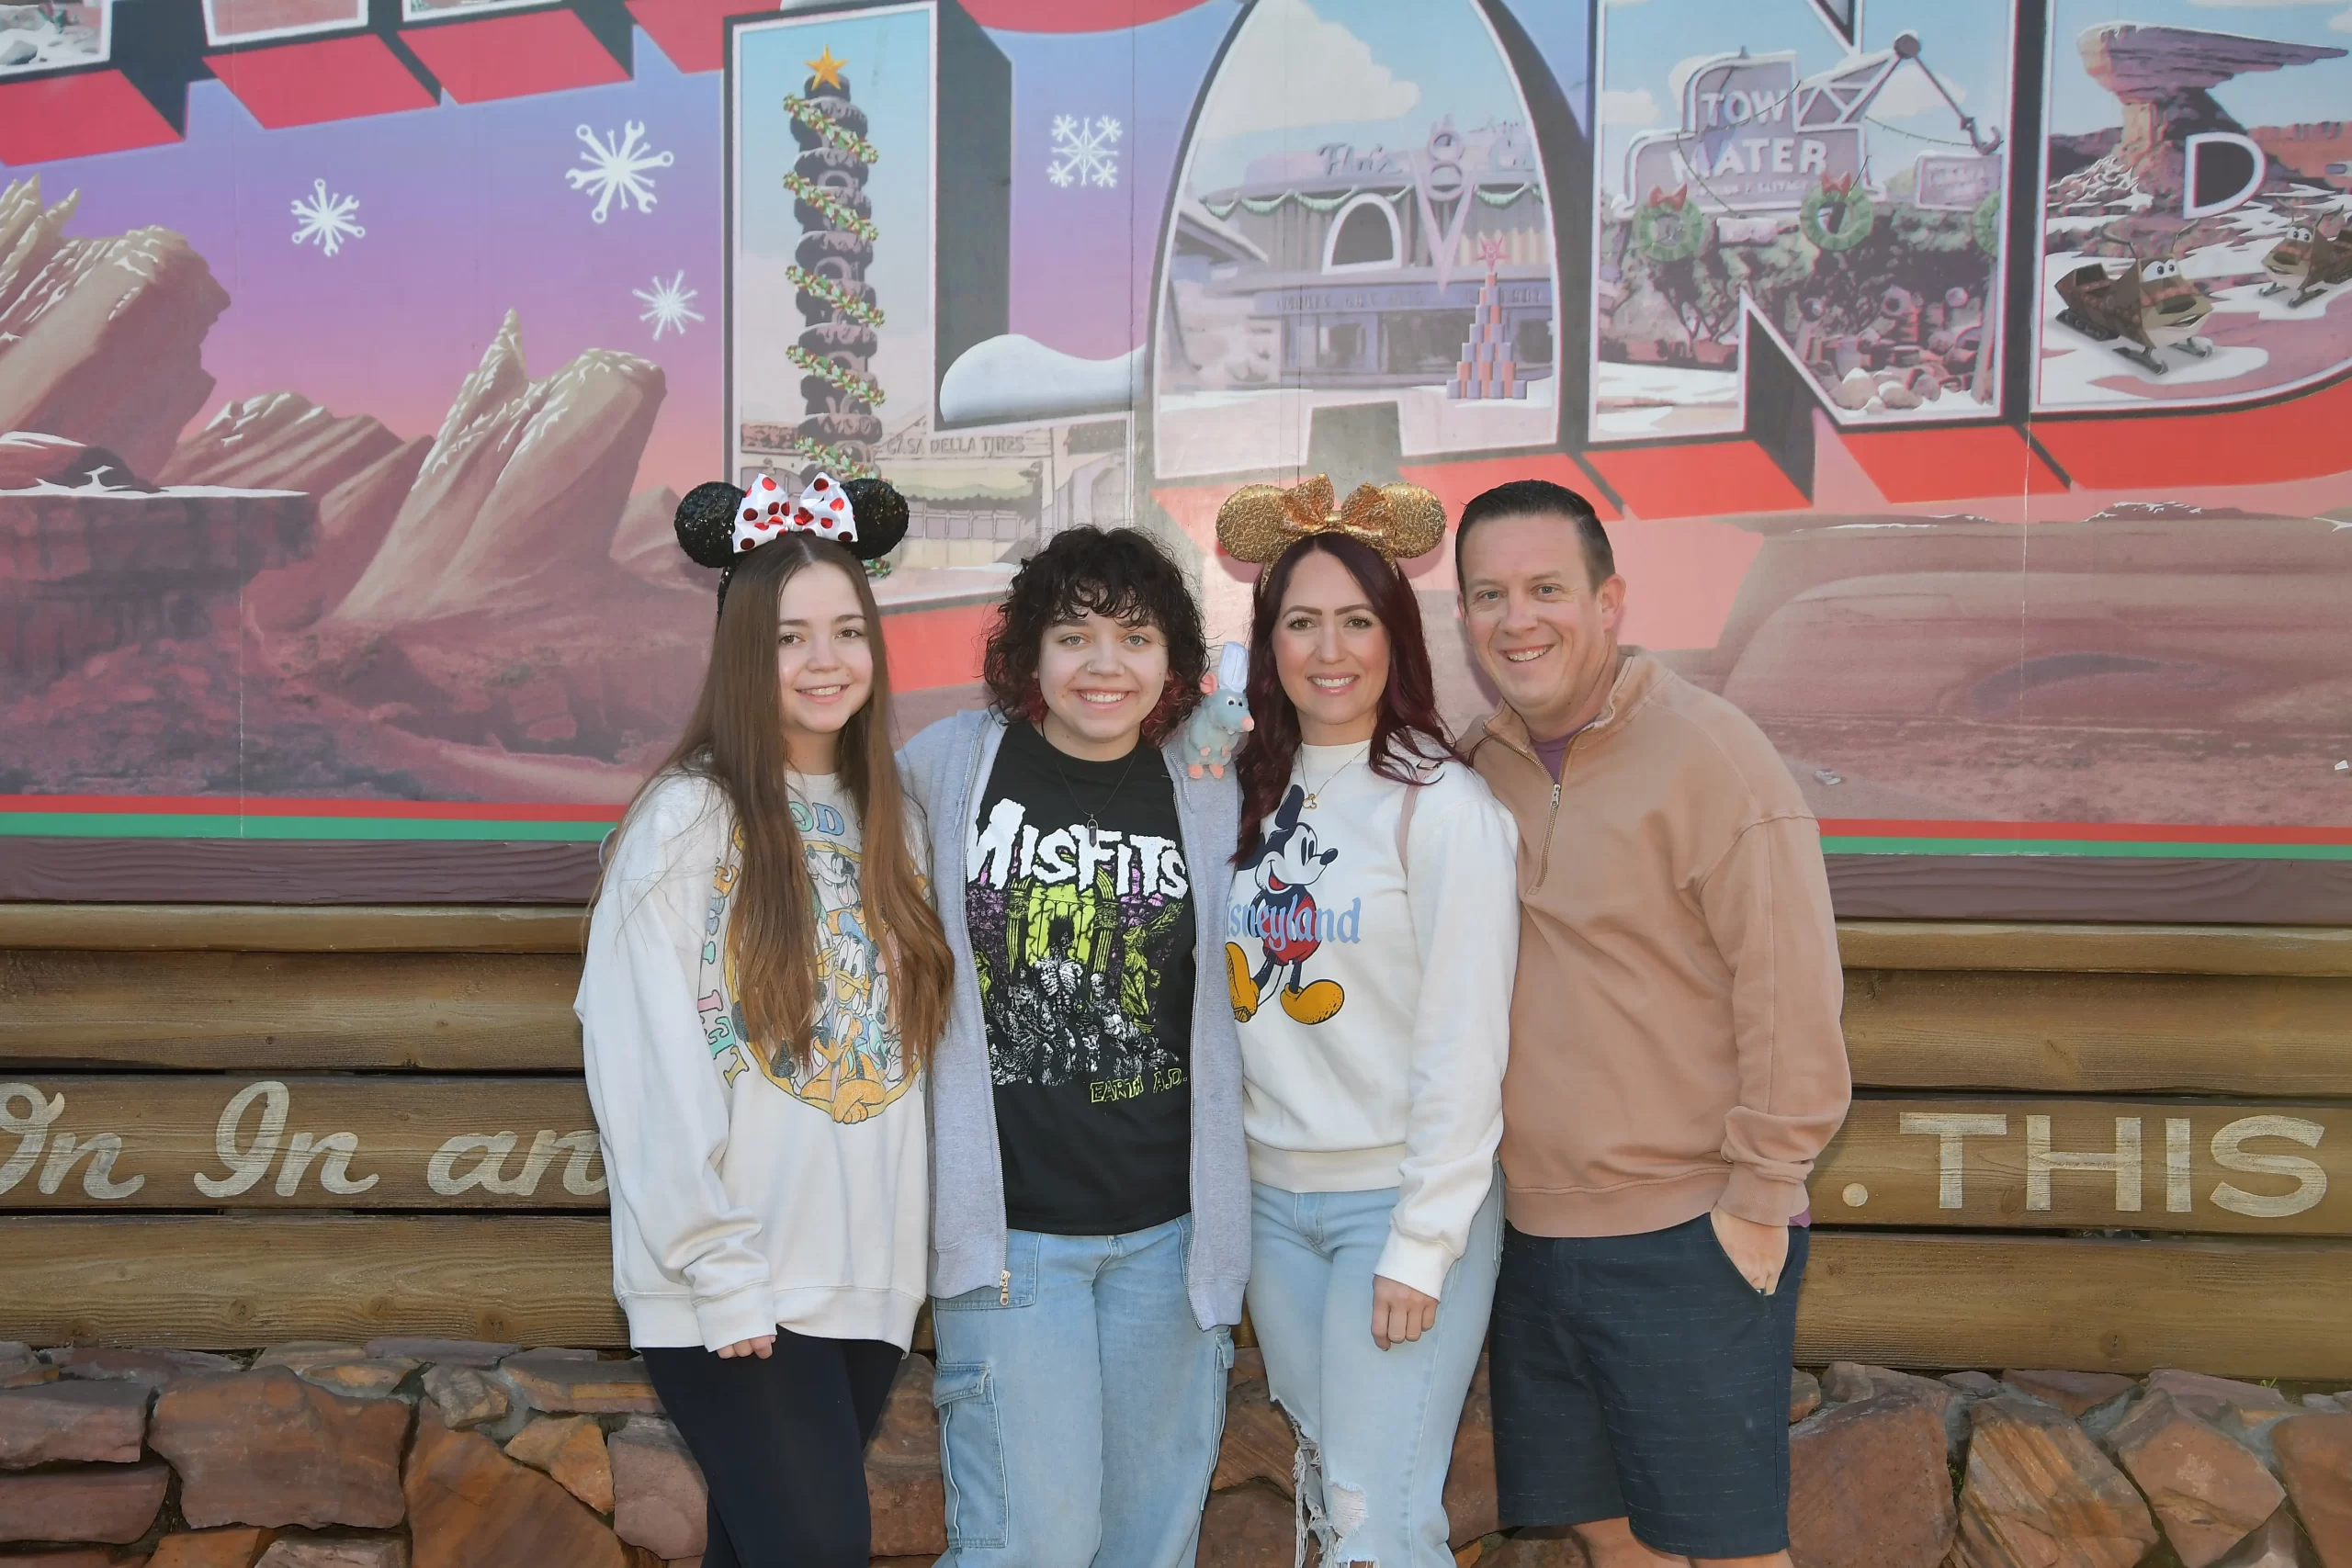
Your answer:
[[[776,1331],[776,1352],[647,1347],[644,1371],[710,1486],[703,1568],[866,1568],[866,1443],[901,1349]]]

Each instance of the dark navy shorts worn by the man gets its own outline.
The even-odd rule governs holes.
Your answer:
[[[1653,1552],[1788,1549],[1788,1378],[1811,1232],[1764,1295],[1698,1215],[1644,1237],[1503,1234],[1503,1523],[1630,1519]]]

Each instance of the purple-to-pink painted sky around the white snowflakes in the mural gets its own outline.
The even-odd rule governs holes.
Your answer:
[[[1014,254],[1009,327],[1082,357],[1143,341],[1160,216],[1197,75],[1225,21],[1192,7],[1141,31],[997,33],[1016,82],[1087,92],[1014,103]],[[1160,68],[1145,71],[1143,61]],[[9,169],[38,174],[54,202],[80,190],[68,233],[160,226],[188,237],[230,294],[205,341],[223,402],[294,390],[336,414],[372,414],[430,435],[508,308],[522,315],[534,376],[588,348],[644,355],[668,395],[637,489],[687,489],[722,465],[724,280],[720,273],[722,78],[677,73],[637,38],[635,80],[499,103],[261,129],[216,82],[188,92],[181,143]],[[1082,101],[1080,101],[1082,99]],[[1047,179],[1061,113],[1112,118],[1117,183]],[[588,139],[668,153],[647,169],[649,212],[616,193],[595,221]],[[296,242],[294,202],[355,197],[365,235],[329,256]],[[642,294],[691,289],[701,320],[659,322]]]

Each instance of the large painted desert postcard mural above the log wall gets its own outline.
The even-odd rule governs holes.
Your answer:
[[[2340,2],[0,5],[0,896],[579,898],[823,465],[908,729],[1061,529],[1232,637],[1240,484],[1534,475],[1842,912],[2343,922],[2347,125]]]

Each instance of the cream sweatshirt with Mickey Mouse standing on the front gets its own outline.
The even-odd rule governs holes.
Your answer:
[[[1270,1187],[1395,1187],[1376,1272],[1439,1295],[1503,1138],[1519,839],[1477,773],[1442,762],[1414,790],[1399,858],[1409,785],[1367,750],[1298,748],[1265,844],[1232,877],[1242,1128]]]

